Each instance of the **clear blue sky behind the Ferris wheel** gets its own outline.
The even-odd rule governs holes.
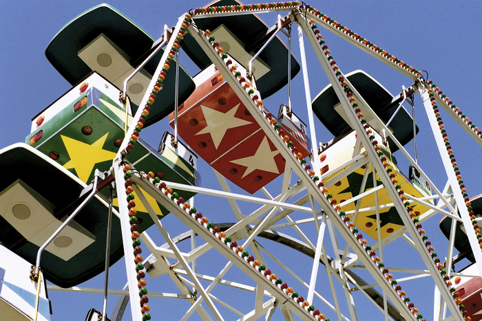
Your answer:
[[[25,136],[30,133],[31,118],[70,89],[67,81],[48,63],[44,54],[45,48],[63,25],[81,12],[97,5],[98,2],[90,0],[75,2],[3,0],[0,3],[0,111],[3,115],[0,118],[2,134],[0,148],[3,148],[16,142],[23,142]],[[174,25],[178,16],[183,12],[205,5],[201,1],[112,1],[109,4],[138,23],[154,38],[158,38],[162,34],[164,24]],[[482,85],[480,76],[482,69],[479,58],[482,49],[480,43],[481,1],[322,1],[322,3],[317,1],[317,3],[312,2],[311,4],[409,65],[428,71],[428,78],[434,80],[434,83],[468,115],[470,120],[482,128],[481,95],[479,93]],[[262,15],[261,17],[268,25],[273,25],[275,22],[273,15]],[[326,38],[337,65],[344,73],[364,69],[392,93],[398,93],[401,85],[406,87],[412,85],[411,80],[379,63],[375,58],[364,54],[352,45],[347,45],[337,37],[329,35],[324,29],[321,29],[321,32]],[[286,40],[284,36],[282,39]],[[295,56],[300,61],[297,45],[294,50]],[[307,49],[307,51],[309,52],[308,62],[313,66],[317,65],[311,49]],[[181,64],[185,65],[193,76],[197,70],[191,63],[186,63],[187,59],[187,56],[181,57]],[[328,85],[326,77],[318,72],[320,69],[316,68],[313,67],[309,74],[312,98]],[[295,78],[293,86],[293,108],[307,123],[301,73]],[[286,95],[287,90],[284,88],[280,93],[266,100],[265,104],[275,113],[280,104],[286,103]],[[439,156],[434,149],[431,133],[427,128],[428,123],[426,115],[423,113],[421,100],[418,96],[415,98],[417,123],[420,127],[417,137],[419,164],[426,169],[439,188],[442,188],[445,179],[443,179],[443,170],[439,165]],[[468,193],[470,197],[479,195],[481,187],[477,164],[482,155],[481,148],[464,131],[457,128],[448,115],[443,114],[442,117]],[[321,123],[317,120],[315,122],[318,140],[320,142],[331,140],[333,137],[322,129]],[[152,146],[157,146],[162,133],[169,129],[165,120],[156,124],[155,129],[148,132],[147,142]],[[412,147],[408,147],[408,149],[412,150]],[[200,166],[203,186],[218,188],[219,184],[213,171],[205,164],[200,164]],[[407,173],[408,165],[402,164],[401,169]],[[212,202],[203,203],[200,199],[200,201],[196,201],[196,207],[213,221],[233,221],[232,214],[226,214],[224,211],[216,209]],[[224,214],[226,216],[223,216]],[[171,221],[166,221],[167,224],[169,224],[168,222]],[[185,227],[180,227],[179,224],[175,225],[174,221],[172,225],[176,226],[172,230],[171,225],[168,226],[172,236],[187,230]],[[446,241],[438,233],[437,219],[432,219],[429,226],[430,231],[433,231],[430,232],[430,236],[433,235],[436,240],[432,241],[435,250],[437,251],[439,248],[437,247],[439,241],[441,245],[439,252],[446,252]],[[162,244],[164,241],[158,237],[158,243]],[[406,246],[408,247],[408,245]],[[406,260],[405,254],[403,250],[399,251],[398,259]],[[284,250],[279,249],[276,255],[282,258]],[[222,259],[220,261],[224,262]],[[396,258],[394,258],[394,262],[397,262]],[[111,274],[111,284],[115,289],[120,289],[125,284],[123,264],[123,261],[120,261]],[[224,263],[220,264],[224,265]],[[231,274],[231,280],[244,282],[246,277],[239,276],[237,279],[238,274],[240,272]],[[401,274],[399,277],[404,276],[406,275]],[[425,291],[423,280],[420,281],[422,283],[417,282],[406,283],[404,289],[424,317],[430,320],[432,302],[424,302],[424,297],[428,296],[431,299],[433,288],[430,287]],[[150,284],[153,285],[149,286]],[[150,291],[174,291],[172,287],[167,290],[163,289],[163,284],[148,279]],[[103,276],[87,282],[83,286],[101,288]],[[300,293],[306,295],[305,290],[301,289]],[[330,297],[328,292],[325,295]],[[97,295],[70,295],[52,291],[50,297],[53,301],[54,320],[85,320],[88,309],[91,307],[102,308],[102,298]],[[109,297],[109,313],[112,311],[115,300],[116,296]],[[249,300],[248,305],[252,305],[253,298],[251,297]],[[182,316],[180,311],[187,309],[187,303],[180,302],[180,300],[153,301],[156,303],[151,304],[151,314],[155,320],[176,320]],[[340,296],[340,301],[342,305],[346,305],[344,297]],[[364,311],[363,305],[366,304],[366,301],[361,302],[357,305],[359,312]],[[316,307],[328,311],[320,302],[317,302]],[[373,311],[373,309],[368,311]],[[346,308],[344,313],[348,315]],[[328,312],[326,314],[331,320],[336,319],[335,313]],[[197,318],[197,316],[194,315],[193,318]],[[281,318],[279,312],[274,320],[278,320],[278,318]],[[125,320],[129,320],[129,316],[126,316]],[[381,320],[381,315],[379,313],[375,315],[360,313],[359,320]]]

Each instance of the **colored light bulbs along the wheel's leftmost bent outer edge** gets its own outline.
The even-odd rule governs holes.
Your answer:
[[[147,116],[149,115],[149,111],[151,110],[152,104],[154,103],[154,100],[156,99],[156,96],[158,95],[158,92],[160,89],[163,88],[163,82],[165,80],[167,71],[169,70],[169,66],[171,63],[174,61],[174,55],[179,49],[180,41],[182,38],[184,38],[184,34],[186,31],[186,27],[189,24],[189,21],[191,21],[191,14],[186,14],[184,21],[182,21],[182,25],[180,27],[179,33],[176,35],[176,40],[174,41],[173,46],[170,49],[169,55],[167,56],[167,59],[165,60],[165,63],[163,65],[162,71],[160,71],[160,74],[158,76],[158,80],[156,84],[154,85],[154,88],[151,91],[151,94],[144,106],[143,113],[140,115],[140,118],[138,119],[138,123],[136,126],[136,130],[134,133],[131,135],[129,144],[127,144],[125,151],[126,153],[129,153],[134,146],[136,146],[136,142],[138,140],[138,137],[140,135],[140,131],[144,126],[145,120],[147,119]],[[134,263],[136,264],[136,272],[137,272],[137,279],[138,279],[138,288],[139,288],[139,297],[140,297],[140,307],[141,307],[141,313],[143,313],[143,321],[145,320],[150,320],[151,315],[148,313],[150,310],[149,305],[147,305],[147,302],[149,302],[149,298],[147,298],[146,294],[148,293],[145,285],[146,282],[144,280],[145,278],[145,273],[143,272],[144,265],[143,265],[143,257],[140,256],[140,253],[142,253],[142,249],[140,248],[140,240],[138,239],[140,234],[138,232],[138,224],[142,223],[142,220],[138,217],[136,217],[136,203],[134,203],[134,188],[132,188],[132,180],[130,177],[132,177],[131,173],[131,166],[127,164],[127,162],[123,163],[123,171],[124,171],[124,179],[125,179],[125,193],[127,195],[127,208],[129,210],[129,223],[131,225],[131,232],[132,232],[132,247],[134,247]],[[149,178],[154,179],[154,181],[157,181],[158,183],[160,182],[159,177],[154,177],[154,174],[152,172],[149,172],[147,174]]]

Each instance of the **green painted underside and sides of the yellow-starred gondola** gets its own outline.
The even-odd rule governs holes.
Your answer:
[[[59,113],[55,118],[52,118],[50,122],[47,122],[42,126],[45,131],[45,135],[37,149],[45,155],[49,155],[51,152],[56,152],[59,158],[56,162],[61,166],[64,166],[72,174],[79,177],[86,184],[89,184],[94,179],[94,170],[106,171],[112,166],[112,160],[114,159],[118,147],[116,147],[116,140],[122,140],[124,137],[124,131],[121,124],[118,123],[119,118],[112,113],[112,111],[106,107],[102,102],[102,98],[105,102],[114,104],[112,100],[109,100],[106,96],[102,96],[99,91],[93,89],[92,101],[96,102],[96,105],[90,107],[83,107],[83,109],[73,112],[73,109],[67,107],[63,111],[65,113]],[[120,107],[119,107],[120,109]],[[105,111],[105,113],[103,112]],[[117,122],[110,118],[106,113],[114,115]],[[59,124],[68,120],[65,126]],[[85,135],[83,129],[85,126],[90,128],[90,134]],[[55,133],[52,133],[55,129]],[[52,133],[52,134],[50,134]],[[47,134],[50,134],[48,136]],[[27,138],[29,139],[29,137]],[[194,176],[194,169],[184,159],[180,158],[173,151],[169,152],[169,158],[164,155],[160,155],[151,146],[146,144],[143,140],[136,142],[136,148],[134,148],[126,157],[127,161],[131,164],[135,164],[136,170],[143,170],[145,173],[152,171],[154,173],[163,173],[163,179],[168,181],[174,181],[180,184],[194,185],[196,183]],[[165,152],[167,154],[167,152]],[[147,155],[147,157],[145,157]],[[172,158],[175,158],[176,162],[172,162]],[[140,162],[138,162],[140,160]],[[177,166],[176,163],[181,162],[185,166]],[[188,168],[189,171],[183,169]],[[107,199],[107,190],[102,191],[102,194]],[[196,193],[182,191],[185,199],[193,197]],[[136,200],[138,202],[138,200]],[[114,201],[114,205],[116,205]],[[149,228],[154,222],[147,214],[147,210],[143,210],[143,206],[137,203],[138,217],[143,219],[144,223],[140,224],[140,232]],[[168,211],[159,203],[157,208],[153,205],[158,216],[160,218],[163,215],[168,214]]]

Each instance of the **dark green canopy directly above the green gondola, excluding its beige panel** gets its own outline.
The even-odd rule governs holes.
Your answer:
[[[149,36],[147,32],[115,8],[107,4],[101,4],[83,12],[67,23],[50,41],[45,50],[45,56],[63,78],[74,86],[92,71],[78,56],[78,52],[100,34],[104,34],[121,48],[129,56],[129,63],[134,68],[144,58],[147,58],[154,49],[154,38]],[[145,65],[145,71],[151,76],[156,71],[163,52],[163,49],[161,49]],[[165,118],[171,111],[174,111],[175,66],[175,63],[171,65],[169,77],[166,77],[164,83],[164,89],[159,93],[162,99],[156,99],[154,102],[152,111],[146,121],[147,125]],[[187,71],[182,68],[180,68],[179,84],[179,104],[181,104],[194,91],[196,85]],[[120,89],[122,90],[122,88]],[[137,109],[138,106],[132,104],[132,112],[135,113]]]

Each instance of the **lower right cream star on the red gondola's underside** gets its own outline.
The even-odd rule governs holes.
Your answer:
[[[280,151],[271,151],[268,138],[264,136],[260,146],[258,147],[258,150],[253,156],[234,159],[230,162],[247,167],[241,178],[244,178],[249,173],[252,173],[253,170],[257,169],[279,174],[280,172],[277,170],[275,162],[275,156],[279,153]]]

